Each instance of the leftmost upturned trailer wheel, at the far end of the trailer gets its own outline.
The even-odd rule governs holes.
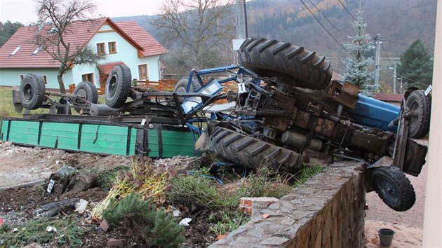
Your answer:
[[[43,103],[44,79],[37,74],[27,74],[20,84],[20,101],[25,109],[38,109]]]

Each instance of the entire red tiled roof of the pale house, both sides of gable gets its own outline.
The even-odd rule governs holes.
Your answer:
[[[99,18],[88,21],[73,22],[65,32],[63,38],[70,43],[72,50],[85,46],[104,24],[109,24],[119,32],[144,56],[160,55],[166,53],[166,48],[161,46],[150,34],[148,34],[136,22],[120,22],[118,25],[109,18]],[[40,32],[48,33],[51,25],[46,25]],[[53,60],[51,55],[40,50],[32,55],[37,46],[32,44],[34,35],[39,32],[36,26],[20,27],[17,32],[0,48],[0,68],[58,68],[60,62]],[[15,48],[20,49],[11,55]]]

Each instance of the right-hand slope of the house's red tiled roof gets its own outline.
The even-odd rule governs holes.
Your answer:
[[[116,25],[118,25],[127,36],[142,46],[142,55],[152,56],[167,53],[166,48],[138,25],[137,22],[116,22]]]

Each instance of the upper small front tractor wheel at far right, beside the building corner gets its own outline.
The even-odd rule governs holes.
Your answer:
[[[429,131],[431,104],[429,96],[425,96],[424,90],[415,90],[408,95],[406,105],[413,112],[410,118],[408,135],[414,139],[420,139]]]

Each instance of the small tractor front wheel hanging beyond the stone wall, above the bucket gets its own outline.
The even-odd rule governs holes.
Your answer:
[[[391,165],[371,170],[375,191],[387,206],[398,212],[413,207],[416,201],[415,190],[398,167]]]

